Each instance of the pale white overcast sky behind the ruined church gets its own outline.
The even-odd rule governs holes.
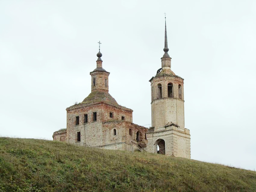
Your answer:
[[[0,1],[0,135],[52,140],[91,92],[101,41],[109,93],[151,124],[169,55],[184,78],[191,158],[256,169],[256,1]]]

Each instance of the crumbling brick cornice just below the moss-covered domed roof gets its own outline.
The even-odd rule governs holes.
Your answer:
[[[81,108],[84,108],[84,107],[89,107],[89,106],[94,106],[94,105],[100,105],[100,104],[105,104],[105,105],[109,105],[111,107],[115,107],[117,109],[122,109],[122,110],[125,110],[125,111],[128,111],[128,112],[133,112],[132,109],[129,109],[127,107],[123,107],[121,105],[114,105],[114,104],[110,104],[110,103],[107,103],[105,101],[98,101],[98,102],[92,102],[92,103],[79,103],[79,104],[75,104],[75,105],[72,105],[70,107],[67,107],[66,108],[66,111],[70,111],[70,110],[76,110],[76,109],[81,109]]]

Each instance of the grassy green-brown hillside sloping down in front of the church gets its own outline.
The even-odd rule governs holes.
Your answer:
[[[254,171],[18,138],[0,138],[0,178],[0,191],[256,191]]]

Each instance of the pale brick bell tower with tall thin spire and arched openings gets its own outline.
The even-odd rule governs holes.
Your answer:
[[[161,68],[149,80],[152,125],[147,133],[147,151],[190,158],[190,132],[184,126],[184,79],[171,70],[168,51],[165,20]]]

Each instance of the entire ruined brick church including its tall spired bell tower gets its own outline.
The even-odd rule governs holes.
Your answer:
[[[165,22],[161,68],[151,82],[151,121],[148,129],[133,123],[133,110],[117,104],[108,93],[109,72],[102,68],[101,52],[90,75],[91,93],[68,107],[67,128],[54,132],[53,140],[114,150],[145,150],[190,158],[190,132],[184,126],[183,80],[171,70]]]

